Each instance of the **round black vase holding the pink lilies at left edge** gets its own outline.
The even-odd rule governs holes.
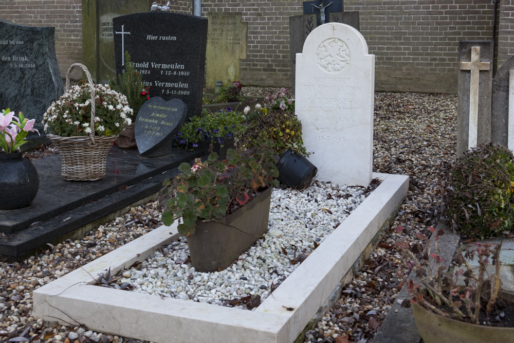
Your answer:
[[[39,189],[39,175],[21,152],[0,153],[0,210],[29,206]]]

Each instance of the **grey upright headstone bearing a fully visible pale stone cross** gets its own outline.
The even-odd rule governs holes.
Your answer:
[[[479,62],[489,63],[488,70],[463,70],[463,63],[471,61],[473,47],[480,48]],[[479,74],[478,97],[473,97],[473,100],[478,102],[476,145],[491,141],[493,46],[491,41],[461,41],[458,44],[458,51],[460,66],[458,70],[457,157],[461,157],[469,148],[470,92],[472,90],[471,74],[473,71]]]

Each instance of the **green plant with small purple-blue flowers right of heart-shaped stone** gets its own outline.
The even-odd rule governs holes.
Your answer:
[[[204,110],[201,115],[191,117],[188,123],[182,125],[175,138],[181,148],[196,148],[203,138],[223,146],[227,138],[238,137],[246,130],[243,124],[245,119],[231,107],[215,113]]]

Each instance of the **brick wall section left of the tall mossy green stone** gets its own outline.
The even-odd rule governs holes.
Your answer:
[[[0,0],[0,19],[27,26],[56,28],[56,53],[62,77],[82,61],[81,0]]]

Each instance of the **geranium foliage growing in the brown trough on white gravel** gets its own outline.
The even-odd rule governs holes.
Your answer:
[[[163,193],[170,195],[162,222],[171,225],[181,218],[178,231],[194,233],[198,219],[223,218],[251,201],[261,191],[278,186],[276,158],[266,142],[259,149],[229,149],[228,159],[217,154],[192,167],[183,163],[172,182],[166,182]]]

